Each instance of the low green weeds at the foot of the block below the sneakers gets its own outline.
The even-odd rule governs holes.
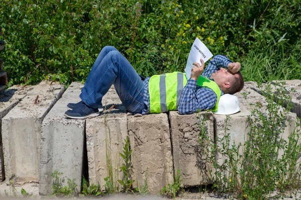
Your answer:
[[[67,186],[63,186],[63,182],[65,182],[64,178],[60,176],[63,175],[62,172],[55,170],[51,177],[52,180],[52,194],[55,196],[74,196],[78,193],[76,187],[77,184],[75,183],[75,179],[68,178]]]

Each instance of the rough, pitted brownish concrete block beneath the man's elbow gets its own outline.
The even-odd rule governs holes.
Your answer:
[[[203,121],[205,119],[205,121]],[[199,125],[204,122],[210,141],[213,139],[213,113],[199,112],[189,115],[181,115],[177,111],[169,112],[171,126],[171,139],[173,146],[175,173],[180,169],[183,179],[182,186],[196,186],[210,184],[213,182],[211,174],[214,173],[212,163],[206,158],[210,154],[204,153],[209,147],[201,146]],[[210,153],[210,152],[208,152]],[[210,174],[209,170],[212,171]]]

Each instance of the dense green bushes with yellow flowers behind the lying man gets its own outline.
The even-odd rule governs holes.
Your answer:
[[[85,81],[113,45],[138,73],[183,71],[199,37],[245,80],[301,79],[299,0],[1,0],[9,85]]]

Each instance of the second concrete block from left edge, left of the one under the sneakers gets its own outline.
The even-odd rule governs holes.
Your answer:
[[[39,181],[42,120],[64,92],[59,83],[43,81],[29,87],[23,98],[2,118],[6,181]]]

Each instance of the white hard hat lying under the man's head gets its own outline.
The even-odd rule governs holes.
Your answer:
[[[232,94],[221,95],[215,114],[234,114],[240,111],[239,100]]]

